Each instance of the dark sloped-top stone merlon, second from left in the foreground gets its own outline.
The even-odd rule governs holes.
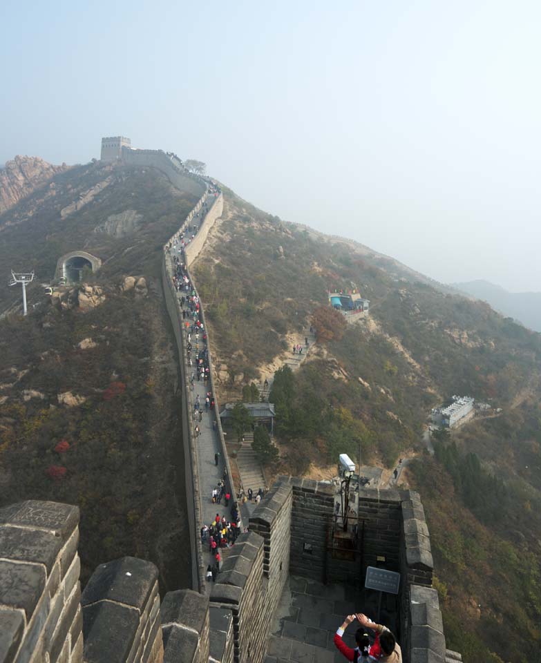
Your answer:
[[[97,567],[84,588],[85,663],[163,659],[158,568],[122,557]]]

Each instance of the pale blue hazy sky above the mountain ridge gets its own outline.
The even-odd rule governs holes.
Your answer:
[[[175,151],[444,282],[541,290],[541,3],[0,2],[0,163]]]

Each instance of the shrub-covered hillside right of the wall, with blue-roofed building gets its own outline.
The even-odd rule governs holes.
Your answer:
[[[415,457],[404,477],[433,533],[448,646],[466,662],[532,660],[541,637],[541,336],[231,191],[195,278],[227,398],[279,367],[293,332],[327,320],[298,372],[282,369],[272,385],[279,471],[332,470],[340,452],[357,459],[359,443],[364,463]],[[368,315],[354,325],[330,309],[321,317],[328,290],[352,287],[370,300]],[[430,457],[427,416],[453,394],[502,412],[435,440]]]

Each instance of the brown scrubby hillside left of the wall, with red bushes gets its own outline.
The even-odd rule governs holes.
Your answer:
[[[164,242],[196,200],[153,169],[88,164],[0,215],[4,282],[9,267],[36,272],[29,315],[0,320],[0,505],[77,504],[84,581],[98,564],[135,555],[158,565],[162,589],[188,584],[178,376],[160,267]],[[102,268],[47,296],[40,283],[75,249]],[[20,298],[20,288],[1,287],[0,309]]]

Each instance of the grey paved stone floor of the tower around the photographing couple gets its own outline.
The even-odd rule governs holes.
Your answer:
[[[336,628],[352,613],[376,619],[378,598],[370,590],[290,576],[274,615],[265,663],[343,663],[333,642]],[[383,595],[381,605],[380,623],[396,633],[396,597]],[[343,636],[350,647],[357,628],[352,622]]]

